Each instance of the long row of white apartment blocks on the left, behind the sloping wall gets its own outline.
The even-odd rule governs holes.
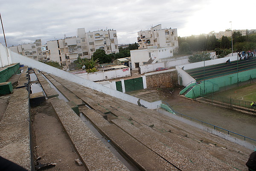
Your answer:
[[[41,40],[33,44],[9,47],[11,51],[30,57],[34,60],[57,61],[67,69],[78,57],[90,59],[96,49],[105,50],[106,54],[117,53],[118,40],[116,30],[99,30],[85,32],[84,28],[77,29],[77,37],[65,37],[60,40],[49,40],[41,45]]]

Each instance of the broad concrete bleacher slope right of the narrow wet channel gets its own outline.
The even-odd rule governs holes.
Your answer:
[[[154,110],[139,107],[53,75],[49,76],[95,109],[84,110],[83,113],[140,168],[154,166],[149,166],[148,162],[144,161],[145,155],[127,150],[131,147],[127,146],[127,142],[123,140],[125,138],[120,139],[120,136],[127,137],[129,143],[134,143],[133,147],[135,144],[139,145],[145,149],[145,153],[156,155],[150,160],[163,162],[169,169],[246,169],[246,154],[250,153],[247,148],[195,129]],[[107,120],[105,115],[108,115]]]

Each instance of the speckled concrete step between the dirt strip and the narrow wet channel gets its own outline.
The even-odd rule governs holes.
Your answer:
[[[51,103],[88,170],[128,170],[64,100],[51,100]]]

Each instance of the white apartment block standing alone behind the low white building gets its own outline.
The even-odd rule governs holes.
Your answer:
[[[150,30],[138,31],[139,49],[148,48],[149,46],[172,47],[178,48],[177,28],[163,28],[159,24],[152,27]]]

